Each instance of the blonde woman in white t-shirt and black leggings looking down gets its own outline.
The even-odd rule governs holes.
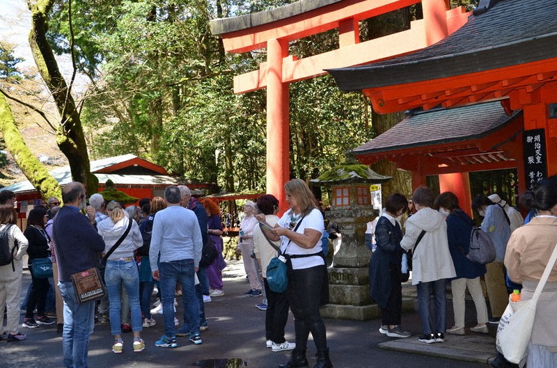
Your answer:
[[[323,215],[304,180],[292,179],[284,184],[284,190],[290,209],[272,230],[263,227],[269,239],[281,240],[281,254],[287,259],[288,265],[286,298],[295,317],[296,347],[288,362],[278,367],[308,366],[306,346],[311,333],[317,349],[314,368],[332,368],[327,330],[319,311],[322,305],[329,302],[327,264],[321,248]],[[264,214],[258,214],[257,219],[271,227]]]

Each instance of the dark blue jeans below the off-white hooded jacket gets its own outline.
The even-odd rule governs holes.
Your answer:
[[[447,280],[441,279],[430,282],[420,282],[416,285],[418,291],[418,310],[422,322],[422,331],[430,333],[445,333],[447,325]],[[435,310],[435,330],[432,330],[430,313],[430,296],[433,289],[433,303]]]

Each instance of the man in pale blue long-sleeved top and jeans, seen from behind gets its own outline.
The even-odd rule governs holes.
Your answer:
[[[180,206],[180,189],[168,186],[164,190],[166,208],[157,212],[152,224],[149,259],[152,277],[160,282],[164,335],[155,346],[178,347],[174,330],[174,294],[176,282],[182,285],[184,313],[189,317],[189,341],[201,344],[199,305],[195,291],[195,273],[199,269],[203,240],[193,211]],[[160,254],[160,266],[157,259]],[[160,268],[159,268],[160,267]]]

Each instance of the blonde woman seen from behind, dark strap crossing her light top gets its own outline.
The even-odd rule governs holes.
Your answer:
[[[104,273],[104,282],[107,284],[110,303],[110,326],[114,335],[112,351],[122,353],[122,327],[120,325],[120,287],[123,285],[127,291],[132,313],[132,330],[134,332],[134,352],[143,351],[145,342],[141,339],[141,307],[139,306],[139,273],[134,260],[134,250],[143,244],[139,225],[131,218],[128,218],[118,202],[111,201],[107,205],[109,218],[97,224],[99,234],[104,239],[104,253],[118,242],[120,237],[127,231],[127,227],[132,223],[130,231],[127,233],[120,245],[113,250],[107,259],[107,269]]]

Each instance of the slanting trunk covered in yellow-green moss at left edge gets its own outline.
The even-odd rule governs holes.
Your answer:
[[[24,175],[39,191],[42,198],[45,200],[50,197],[61,198],[62,191],[58,182],[26,146],[19,129],[15,125],[10,105],[6,102],[6,97],[2,93],[0,93],[0,131],[17,166],[22,169]]]

